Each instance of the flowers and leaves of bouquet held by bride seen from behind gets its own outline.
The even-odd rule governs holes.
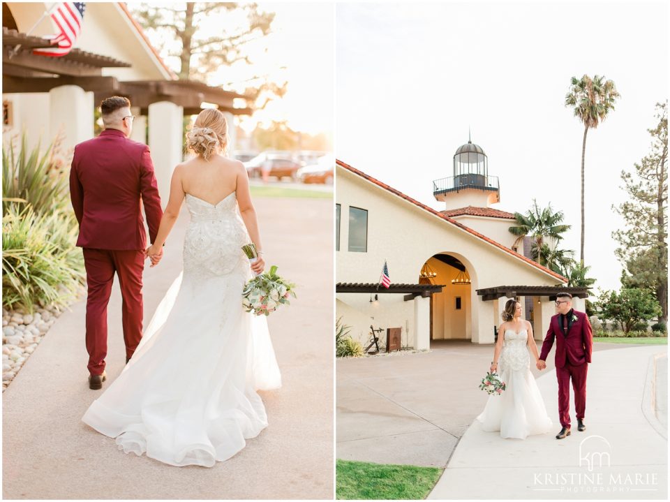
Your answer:
[[[255,316],[269,316],[280,305],[290,304],[288,297],[295,298],[295,284],[277,275],[276,265],[269,272],[255,276],[246,283],[242,291],[242,305]]]

